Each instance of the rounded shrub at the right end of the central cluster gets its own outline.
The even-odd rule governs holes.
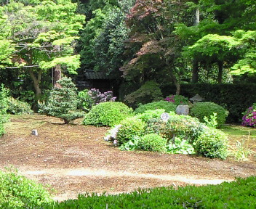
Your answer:
[[[204,157],[225,159],[228,155],[227,142],[227,136],[223,131],[206,128],[194,144],[194,149],[198,155]]]

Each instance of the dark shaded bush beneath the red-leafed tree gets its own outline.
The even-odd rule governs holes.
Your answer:
[[[147,104],[162,99],[161,89],[156,81],[147,81],[137,91],[132,92],[124,97],[124,102],[129,107],[136,108],[140,104]]]

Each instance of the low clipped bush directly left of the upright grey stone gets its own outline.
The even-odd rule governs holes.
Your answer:
[[[172,102],[167,101],[158,101],[158,102],[151,102],[145,105],[140,105],[135,110],[135,113],[143,113],[146,110],[156,110],[156,109],[164,109],[165,112],[171,112],[176,110],[177,105],[173,104]]]

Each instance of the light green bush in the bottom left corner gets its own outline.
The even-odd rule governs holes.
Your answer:
[[[0,171],[0,208],[33,208],[52,202],[49,192],[41,184],[17,175]]]

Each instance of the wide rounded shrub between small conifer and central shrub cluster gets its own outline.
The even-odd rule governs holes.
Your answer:
[[[84,125],[114,126],[134,115],[132,108],[121,102],[101,102],[84,117]]]

